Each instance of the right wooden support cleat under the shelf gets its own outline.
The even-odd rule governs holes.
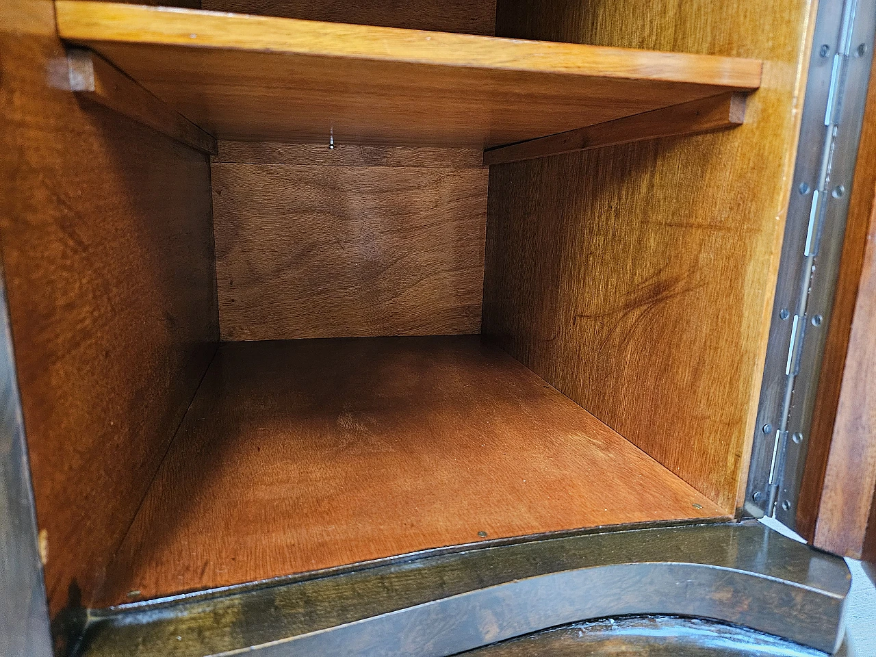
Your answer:
[[[745,119],[745,95],[722,94],[484,151],[484,165],[630,144],[735,127]]]

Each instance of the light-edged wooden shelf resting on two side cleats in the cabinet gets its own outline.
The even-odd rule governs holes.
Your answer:
[[[100,53],[217,138],[487,148],[760,83],[710,55],[58,0]]]

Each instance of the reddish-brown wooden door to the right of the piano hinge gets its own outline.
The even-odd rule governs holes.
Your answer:
[[[833,450],[853,449],[856,455],[860,455],[860,450],[869,449],[867,442],[872,443],[872,433],[876,430],[872,424],[876,400],[871,402],[871,408],[866,408],[868,399],[865,395],[866,381],[860,378],[861,373],[866,370],[850,372],[847,382],[844,378],[846,364],[861,361],[863,361],[861,365],[867,363],[864,338],[872,341],[872,334],[867,336],[865,331],[868,327],[872,330],[872,327],[876,326],[876,315],[868,315],[872,313],[872,307],[867,306],[866,299],[859,297],[860,294],[865,295],[868,291],[872,294],[873,272],[865,266],[870,268],[874,266],[873,256],[868,251],[868,247],[876,237],[876,217],[873,215],[876,211],[876,83],[874,83],[876,62],[870,80],[864,123],[858,142],[858,161],[851,184],[851,199],[845,223],[837,290],[830,313],[830,328],[824,344],[816,405],[812,412],[812,428],[806,454],[806,470],[803,472],[797,505],[796,526],[798,533],[807,540],[813,541],[816,540],[816,523],[818,523],[819,547],[849,556],[857,555],[857,558],[860,557],[862,543],[865,540],[865,529],[867,526],[872,526],[872,522],[865,522],[865,516],[861,513],[862,509],[872,504],[867,499],[868,491],[862,487],[860,479],[837,471],[837,463],[834,463],[831,466],[831,475],[839,475],[840,479],[830,483],[832,499],[823,499],[822,492],[828,459],[835,458],[831,456]],[[853,325],[852,321],[857,323]],[[856,343],[850,342],[853,326],[857,331]],[[845,414],[837,416],[842,398],[847,398],[844,405]],[[860,406],[857,411],[854,410],[855,406]],[[862,423],[859,425],[850,423],[850,412],[860,413],[858,418]],[[835,434],[838,436],[836,447],[832,445]],[[837,455],[836,458],[840,457]],[[859,466],[866,468],[864,463],[860,463]],[[858,472],[858,475],[861,474]],[[870,493],[872,497],[872,491]],[[849,513],[845,512],[844,498],[854,500],[856,509],[849,510]],[[824,512],[837,512],[839,509],[839,515],[832,520],[819,521],[822,505]],[[872,548],[876,549],[876,531],[871,530],[870,535]],[[843,552],[843,548],[851,551]]]

